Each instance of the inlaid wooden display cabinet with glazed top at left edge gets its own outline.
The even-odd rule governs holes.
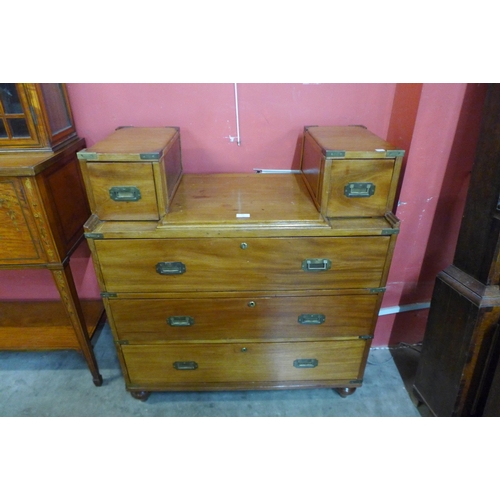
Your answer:
[[[91,338],[104,309],[99,297],[80,300],[70,266],[90,215],[76,157],[84,147],[64,84],[0,84],[0,350],[77,350],[99,386]],[[14,271],[29,286],[40,270],[60,300],[8,298]]]

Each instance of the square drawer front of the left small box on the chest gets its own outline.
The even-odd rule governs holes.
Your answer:
[[[87,162],[92,211],[101,220],[158,220],[151,163]]]

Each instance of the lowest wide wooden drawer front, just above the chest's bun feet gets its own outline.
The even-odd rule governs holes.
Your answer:
[[[356,380],[363,340],[249,344],[124,345],[132,385]]]

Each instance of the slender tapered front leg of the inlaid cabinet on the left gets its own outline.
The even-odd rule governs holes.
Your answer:
[[[99,373],[97,360],[94,355],[94,349],[90,342],[85,317],[83,315],[80,299],[73,280],[73,274],[69,267],[69,260],[63,264],[62,269],[51,269],[52,277],[56,283],[59,295],[63,302],[64,308],[68,313],[71,324],[75,331],[83,357],[87,362],[94,385],[100,387],[102,385],[102,376]]]

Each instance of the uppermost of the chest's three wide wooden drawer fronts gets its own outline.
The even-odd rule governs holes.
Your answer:
[[[389,237],[96,240],[106,290],[376,288]]]

